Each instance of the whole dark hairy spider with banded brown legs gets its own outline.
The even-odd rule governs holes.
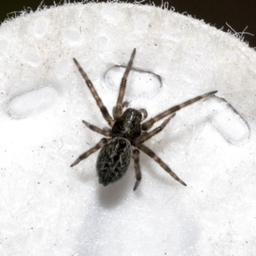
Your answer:
[[[161,132],[164,127],[170,122],[170,120],[175,116],[175,111],[178,111],[181,108],[184,108],[200,99],[204,99],[216,93],[217,91],[205,93],[195,97],[194,99],[188,100],[173,106],[172,108],[163,111],[159,115],[150,118],[147,122],[143,122],[147,118],[146,109],[133,109],[127,108],[128,102],[123,102],[125,87],[127,77],[131,71],[132,62],[136,49],[132,51],[131,58],[125,69],[124,76],[122,77],[122,82],[120,84],[120,89],[118,93],[118,98],[116,101],[116,106],[113,108],[113,118],[109,115],[108,109],[104,106],[102,100],[100,99],[97,91],[95,90],[92,82],[84,72],[83,68],[79,65],[77,60],[74,58],[74,62],[83,76],[84,81],[86,82],[88,88],[90,89],[93,98],[95,99],[97,106],[99,107],[102,116],[108,122],[110,128],[100,129],[99,127],[89,124],[83,120],[83,123],[91,129],[92,131],[98,132],[106,136],[107,138],[102,138],[99,143],[94,147],[90,148],[81,156],[79,156],[70,167],[75,166],[83,159],[89,157],[91,154],[100,150],[99,156],[97,158],[96,168],[97,174],[99,176],[99,183],[103,186],[107,186],[110,183],[115,182],[124,176],[125,172],[128,169],[128,166],[131,162],[131,159],[134,159],[134,169],[136,175],[136,182],[133,190],[135,191],[138,188],[138,185],[141,181],[141,170],[140,170],[140,150],[147,154],[149,157],[152,157],[160,166],[168,172],[173,179],[179,181],[182,185],[187,186],[184,181],[182,181],[170,168],[165,164],[150,148],[143,145],[143,143],[152,136]],[[124,110],[125,109],[125,110]],[[157,121],[162,120],[164,117],[168,116],[164,122],[156,127],[152,131],[148,131]],[[143,122],[143,123],[142,123]],[[142,123],[142,124],[141,124]]]

